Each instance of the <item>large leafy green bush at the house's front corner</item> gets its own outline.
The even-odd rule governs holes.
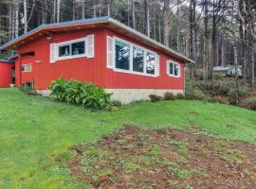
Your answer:
[[[110,96],[93,83],[82,83],[63,77],[53,81],[49,87],[51,96],[58,101],[82,105],[84,108],[101,110],[110,105]]]

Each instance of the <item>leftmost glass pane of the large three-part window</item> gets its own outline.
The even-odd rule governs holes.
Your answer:
[[[130,45],[116,41],[116,68],[130,69]]]

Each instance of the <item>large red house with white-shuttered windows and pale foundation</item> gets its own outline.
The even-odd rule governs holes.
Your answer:
[[[109,17],[42,25],[1,48],[18,51],[16,86],[47,94],[52,80],[75,78],[122,102],[184,93],[184,64],[192,62]]]

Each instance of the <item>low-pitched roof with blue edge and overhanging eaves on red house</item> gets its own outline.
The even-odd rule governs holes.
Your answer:
[[[155,40],[145,36],[144,34],[138,32],[137,30],[126,26],[119,21],[105,16],[105,17],[97,17],[97,18],[90,18],[90,19],[83,19],[77,21],[68,21],[63,23],[54,23],[54,24],[46,24],[38,26],[26,34],[21,35],[20,37],[10,41],[9,43],[5,43],[0,46],[0,49],[17,49],[26,43],[31,43],[36,38],[47,34],[48,32],[63,32],[63,31],[70,31],[70,30],[79,30],[79,29],[89,29],[89,28],[96,28],[96,27],[105,27],[114,29],[124,35],[128,35],[131,38],[138,39],[141,43],[153,45],[155,48],[164,51],[165,53],[174,56],[177,59],[185,60],[188,62],[194,62],[193,60],[185,57],[184,55],[174,51],[173,49],[169,48],[168,46],[158,43]]]

